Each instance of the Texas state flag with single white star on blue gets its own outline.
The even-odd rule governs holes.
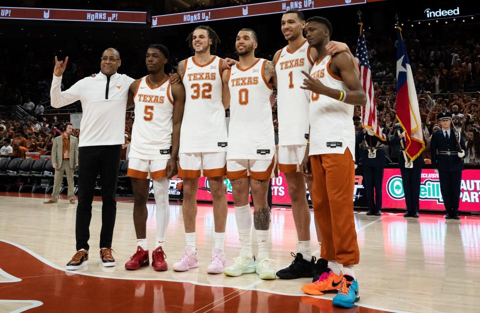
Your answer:
[[[400,31],[401,28],[397,27],[395,111],[398,121],[405,130],[405,152],[411,159],[415,159],[425,149],[425,143],[413,74]]]

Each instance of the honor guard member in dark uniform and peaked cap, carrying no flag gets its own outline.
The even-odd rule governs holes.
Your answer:
[[[465,143],[460,133],[451,127],[450,112],[440,112],[436,119],[440,121],[441,130],[431,135],[431,165],[440,180],[440,191],[446,210],[445,218],[460,219],[458,205]]]

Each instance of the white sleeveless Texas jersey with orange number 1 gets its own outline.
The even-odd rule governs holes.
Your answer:
[[[278,145],[306,144],[308,138],[308,90],[301,89],[305,75],[313,60],[308,42],[303,41],[295,50],[288,45],[280,50],[275,60],[278,81]]]

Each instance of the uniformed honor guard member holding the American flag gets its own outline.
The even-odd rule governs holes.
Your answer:
[[[386,166],[385,151],[382,144],[390,143],[385,129],[382,129],[386,140],[378,138],[373,130],[363,128],[356,137],[357,142],[363,141],[360,151],[360,161],[363,166],[363,179],[365,179],[366,200],[368,202],[367,215],[381,215],[381,189],[383,181],[383,168]]]

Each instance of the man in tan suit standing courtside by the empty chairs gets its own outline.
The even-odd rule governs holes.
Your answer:
[[[56,203],[58,193],[60,192],[61,182],[63,181],[63,172],[68,182],[68,200],[70,204],[75,204],[75,195],[73,194],[73,170],[78,166],[78,139],[71,135],[71,123],[63,126],[63,133],[53,139],[51,148],[51,163],[55,168],[55,178],[53,181],[53,193],[48,201],[43,203]]]

